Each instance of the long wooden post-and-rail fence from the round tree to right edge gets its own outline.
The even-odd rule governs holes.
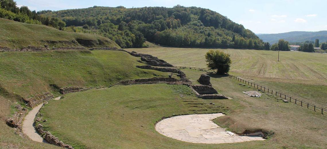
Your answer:
[[[235,79],[235,80],[237,80],[237,81],[239,81],[239,82],[243,82],[243,83],[245,83],[245,84],[248,84],[248,85],[251,86],[251,87],[254,87],[254,88],[256,87],[257,89],[260,89],[260,90],[262,90],[262,91],[267,91],[267,92],[269,92],[269,93],[271,93],[271,94],[275,94],[276,96],[279,96],[279,97],[282,98],[282,99],[289,100],[289,102],[295,103],[295,104],[297,104],[297,105],[301,105],[301,107],[306,107],[306,108],[308,108],[308,109],[313,109],[313,110],[315,110],[315,111],[319,111],[319,112],[321,111],[321,114],[324,114],[324,112],[327,111],[327,109],[320,108],[320,107],[317,107],[317,106],[315,106],[315,105],[312,105],[312,104],[306,103],[306,102],[304,102],[304,101],[301,101],[301,100],[298,100],[298,99],[292,98],[292,97],[287,96],[287,95],[285,95],[285,94],[283,94],[283,93],[281,93],[281,92],[273,91],[272,89],[269,89],[269,88],[263,87],[263,86],[261,86],[261,85],[258,85],[258,84],[252,83],[252,82],[249,82],[249,81],[244,80],[244,79],[242,79],[242,78],[239,78],[239,77],[236,77],[236,76],[233,76],[233,75],[229,75],[229,77],[232,78],[232,79]]]

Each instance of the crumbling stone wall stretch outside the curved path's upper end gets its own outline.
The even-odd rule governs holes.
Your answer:
[[[35,107],[45,101],[49,101],[53,98],[53,94],[52,93],[49,93],[49,92],[45,92],[45,93],[42,93],[42,94],[36,94],[34,95],[34,97],[31,97],[31,98],[28,98],[28,99],[24,99],[27,106],[28,107]]]

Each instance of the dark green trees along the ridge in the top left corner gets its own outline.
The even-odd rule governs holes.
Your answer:
[[[0,1],[0,17],[29,24],[42,24],[51,26],[60,30],[66,26],[66,23],[57,17],[39,15],[39,12],[31,11],[27,6],[16,6],[13,0]]]

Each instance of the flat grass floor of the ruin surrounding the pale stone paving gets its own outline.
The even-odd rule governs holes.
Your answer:
[[[203,72],[183,70],[193,82]],[[45,128],[74,148],[324,148],[327,117],[264,94],[244,97],[253,90],[238,82],[212,75],[213,87],[228,100],[198,99],[186,86],[152,84],[115,86],[65,95],[43,109]],[[146,91],[146,92],[144,92]],[[184,97],[181,98],[180,95]],[[92,100],[91,100],[92,99]],[[210,105],[213,102],[215,105]],[[72,108],[75,107],[75,108]],[[58,110],[62,109],[62,110]],[[214,122],[242,133],[272,131],[266,141],[198,144],[178,141],[155,131],[162,117],[225,112]],[[58,127],[60,126],[60,127]],[[309,137],[308,137],[309,136]]]

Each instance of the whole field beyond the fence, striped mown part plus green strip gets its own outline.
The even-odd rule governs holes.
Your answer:
[[[127,49],[165,59],[175,66],[206,67],[197,48]],[[217,49],[232,57],[230,74],[259,83],[316,106],[327,108],[327,55],[305,52]]]

